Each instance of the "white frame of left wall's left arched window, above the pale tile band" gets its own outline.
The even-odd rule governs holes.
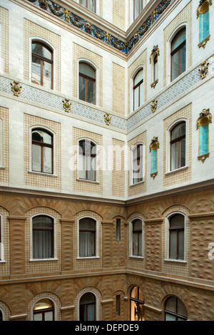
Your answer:
[[[32,41],[41,42],[49,46],[53,52],[53,73],[51,73],[51,76],[53,76],[53,88],[46,88],[44,86],[37,85],[35,83],[32,83]],[[32,85],[36,85],[36,87],[43,88],[46,91],[54,91],[56,90],[56,48],[47,41],[45,38],[42,38],[41,36],[30,36],[29,37],[29,82]]]

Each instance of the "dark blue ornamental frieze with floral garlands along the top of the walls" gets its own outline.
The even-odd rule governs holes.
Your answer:
[[[43,9],[44,11],[48,12],[51,15],[58,17],[71,26],[75,26],[77,29],[88,33],[89,35],[93,36],[94,38],[98,38],[103,43],[107,43],[109,46],[116,48],[118,51],[122,53],[128,54],[129,51],[133,48],[133,46],[138,43],[141,37],[148,31],[151,26],[158,20],[159,16],[168,8],[170,3],[173,0],[162,0],[160,4],[154,9],[152,14],[148,16],[146,21],[143,22],[141,27],[136,31],[135,35],[129,41],[121,41],[120,39],[116,38],[115,36],[111,35],[107,31],[103,31],[102,29],[98,28],[94,24],[82,19],[80,16],[68,11],[67,9],[63,8],[62,6],[56,4],[54,1],[51,0],[27,0],[34,4],[35,6]]]

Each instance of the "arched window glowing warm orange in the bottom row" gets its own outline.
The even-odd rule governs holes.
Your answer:
[[[130,320],[145,321],[143,292],[139,287],[135,286],[131,290],[130,302]]]

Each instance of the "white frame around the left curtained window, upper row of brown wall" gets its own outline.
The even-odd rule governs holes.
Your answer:
[[[53,258],[33,258],[33,219],[34,217],[37,217],[40,215],[51,217],[51,219],[54,220],[54,257]],[[31,215],[31,217],[29,217],[29,222],[30,222],[30,259],[29,259],[30,262],[38,262],[38,261],[39,262],[43,262],[43,261],[50,262],[53,260],[58,260],[57,258],[57,219],[56,217],[46,212],[39,212],[34,215]]]

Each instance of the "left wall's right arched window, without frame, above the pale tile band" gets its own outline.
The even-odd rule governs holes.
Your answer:
[[[96,103],[96,71],[88,63],[79,63],[79,99]]]

